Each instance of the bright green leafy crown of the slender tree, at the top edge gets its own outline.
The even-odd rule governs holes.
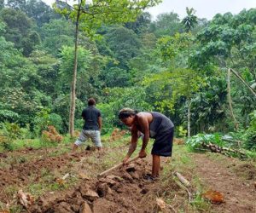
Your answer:
[[[57,1],[53,7],[67,15],[74,22],[79,18],[81,29],[90,37],[96,35],[96,30],[102,24],[124,23],[136,20],[142,9],[153,7],[161,0],[81,0],[73,5]],[[79,15],[78,15],[79,14]]]

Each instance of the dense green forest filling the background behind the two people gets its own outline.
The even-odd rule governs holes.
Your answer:
[[[89,97],[103,115],[103,133],[119,126],[122,107],[159,111],[177,131],[234,132],[255,149],[256,9],[216,14],[212,20],[187,9],[137,14],[137,20],[98,29],[81,26],[75,127]],[[40,135],[48,124],[67,133],[72,82],[74,23],[41,0],[8,1],[0,8],[0,122]],[[94,20],[97,25],[99,20]],[[93,23],[91,23],[93,24]],[[87,27],[87,28],[86,28]],[[99,35],[91,39],[90,32]],[[227,101],[227,71],[231,104]],[[230,106],[232,108],[230,108]],[[239,126],[236,129],[234,112]],[[27,127],[27,125],[29,125]],[[186,132],[186,131],[185,131]]]

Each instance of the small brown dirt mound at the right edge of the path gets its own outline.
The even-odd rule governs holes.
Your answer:
[[[238,176],[256,181],[256,167],[252,164],[240,164],[234,170]]]

